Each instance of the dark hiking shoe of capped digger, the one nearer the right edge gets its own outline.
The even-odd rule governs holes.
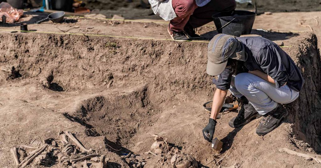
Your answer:
[[[256,134],[265,135],[271,132],[280,125],[282,119],[285,119],[287,115],[288,111],[282,106],[282,104],[278,104],[273,111],[263,115],[259,126],[256,128]]]

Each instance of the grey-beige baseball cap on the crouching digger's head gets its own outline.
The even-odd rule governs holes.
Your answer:
[[[234,36],[227,34],[217,34],[208,44],[208,61],[206,73],[208,75],[220,75],[229,58],[246,60],[243,44]]]

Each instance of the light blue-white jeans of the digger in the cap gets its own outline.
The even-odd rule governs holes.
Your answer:
[[[275,84],[250,73],[233,77],[230,92],[238,98],[244,95],[261,115],[275,109],[278,103],[291,103],[299,97],[299,92],[288,85],[277,88]]]

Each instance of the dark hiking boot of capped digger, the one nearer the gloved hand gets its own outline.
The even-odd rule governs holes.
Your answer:
[[[232,118],[229,122],[230,127],[232,128],[238,128],[246,125],[249,123],[252,119],[258,119],[262,117],[252,106],[252,104],[248,103],[248,100],[245,96],[242,96],[241,98],[237,98],[237,101],[239,102],[239,114],[238,116]]]

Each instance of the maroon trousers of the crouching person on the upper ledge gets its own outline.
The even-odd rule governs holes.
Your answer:
[[[235,0],[211,0],[205,6],[198,7],[195,0],[172,0],[172,6],[177,17],[170,21],[169,28],[180,32],[184,30],[187,22],[193,28],[213,22],[214,13],[234,10],[236,2]]]

